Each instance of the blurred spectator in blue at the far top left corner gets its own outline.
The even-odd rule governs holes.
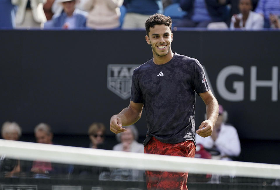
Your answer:
[[[0,1],[0,28],[15,27],[15,11],[16,6],[12,4],[12,0]]]

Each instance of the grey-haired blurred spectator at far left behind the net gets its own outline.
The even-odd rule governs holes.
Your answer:
[[[21,128],[16,122],[4,122],[1,129],[1,135],[3,139],[6,140],[19,140],[21,136]],[[1,156],[0,158],[0,173],[4,177],[12,177],[20,173],[20,160],[5,158]]]

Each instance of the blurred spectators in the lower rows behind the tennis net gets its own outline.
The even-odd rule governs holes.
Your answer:
[[[227,112],[223,106],[219,106],[219,116],[213,133],[210,137],[196,136],[197,158],[238,160],[241,151],[237,130],[228,124]],[[118,133],[115,138],[118,144],[112,145],[112,141],[105,139],[106,127],[103,123],[94,122],[88,128],[88,148],[98,148],[113,151],[127,151],[144,153],[144,146],[138,141],[136,126],[125,126],[125,132]],[[1,136],[6,140],[18,141],[22,135],[22,129],[16,122],[4,122],[1,128]],[[46,123],[39,123],[34,128],[34,137],[37,143],[56,144],[53,141],[53,132]],[[214,152],[214,154],[212,154]],[[218,154],[217,154],[218,152]],[[49,179],[51,177],[78,177],[81,179],[111,179],[111,180],[145,180],[145,171],[128,170],[120,168],[106,168],[96,166],[81,166],[52,163],[48,160],[15,160],[0,155],[0,177],[27,176],[33,178]],[[211,180],[211,175],[206,180]]]

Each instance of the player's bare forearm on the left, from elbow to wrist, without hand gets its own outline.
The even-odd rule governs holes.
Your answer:
[[[123,109],[119,114],[113,115],[112,118],[114,116],[119,117],[122,120],[122,126],[127,126],[132,125],[136,121],[138,121],[141,118],[141,113],[128,106],[127,108]]]

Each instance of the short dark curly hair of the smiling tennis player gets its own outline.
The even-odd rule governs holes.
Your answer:
[[[150,27],[154,28],[155,25],[163,25],[163,24],[168,26],[170,28],[170,31],[172,32],[171,30],[172,19],[169,16],[165,16],[158,13],[151,15],[145,22],[147,36],[149,36]]]

